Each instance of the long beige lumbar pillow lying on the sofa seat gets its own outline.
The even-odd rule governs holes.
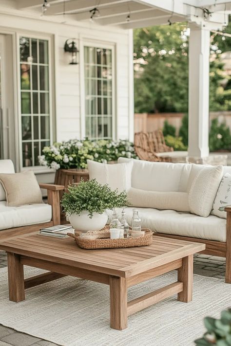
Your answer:
[[[134,207],[190,212],[187,192],[145,191],[132,187],[128,191],[128,201]]]

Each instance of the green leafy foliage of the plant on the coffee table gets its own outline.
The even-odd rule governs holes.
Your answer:
[[[96,179],[84,182],[81,180],[77,185],[68,186],[68,193],[63,194],[61,205],[67,216],[79,215],[87,210],[90,218],[93,213],[102,214],[105,209],[120,208],[129,205],[127,192],[113,191],[108,184],[101,185]]]

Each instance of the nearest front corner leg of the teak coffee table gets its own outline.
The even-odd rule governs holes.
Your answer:
[[[110,276],[111,328],[122,330],[128,326],[127,282],[124,277]]]

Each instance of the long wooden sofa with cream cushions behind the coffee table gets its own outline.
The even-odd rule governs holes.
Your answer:
[[[130,159],[119,158],[118,163]],[[132,187],[145,191],[187,192],[192,164],[173,164],[133,160]],[[224,166],[224,174],[231,166]],[[142,227],[150,228],[157,236],[191,240],[206,244],[203,254],[226,257],[226,282],[231,283],[231,208],[227,219],[214,215],[207,218],[191,213],[154,208],[137,208]],[[121,213],[121,209],[117,210]],[[131,224],[133,207],[126,209]],[[109,211],[109,214],[111,212]]]

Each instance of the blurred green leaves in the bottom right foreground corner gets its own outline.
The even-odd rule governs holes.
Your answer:
[[[196,346],[231,346],[231,309],[222,311],[220,319],[206,317],[204,324],[207,331]]]

